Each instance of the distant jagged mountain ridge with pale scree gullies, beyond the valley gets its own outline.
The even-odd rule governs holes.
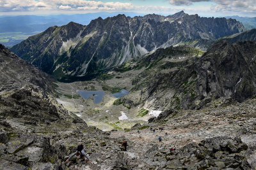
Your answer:
[[[204,18],[183,11],[163,17],[97,18],[89,25],[70,22],[22,41],[11,48],[57,78],[92,76],[100,70],[170,45],[188,44],[203,50],[220,37],[244,31],[226,18]]]

